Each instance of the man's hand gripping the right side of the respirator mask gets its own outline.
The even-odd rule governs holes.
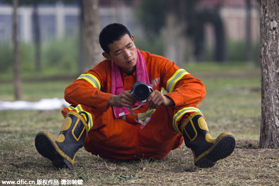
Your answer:
[[[154,109],[156,109],[159,105],[162,106],[175,105],[175,102],[169,96],[162,95],[162,93],[157,90],[151,92],[151,94],[149,95],[146,101],[149,103],[148,107]]]

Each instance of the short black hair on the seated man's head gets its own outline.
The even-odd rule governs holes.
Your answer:
[[[108,44],[120,40],[125,34],[131,38],[129,30],[123,24],[112,23],[107,25],[99,35],[99,42],[104,52],[109,54]]]

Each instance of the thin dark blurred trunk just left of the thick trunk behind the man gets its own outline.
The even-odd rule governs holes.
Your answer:
[[[83,8],[82,8],[82,0],[79,0],[79,7],[80,7],[80,15],[79,15],[79,51],[78,51],[78,67],[79,67],[79,74],[85,72],[85,65],[84,65],[84,19],[83,19]]]

